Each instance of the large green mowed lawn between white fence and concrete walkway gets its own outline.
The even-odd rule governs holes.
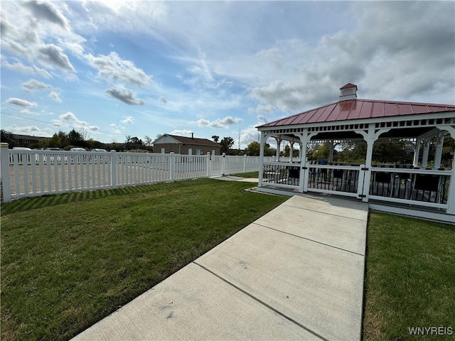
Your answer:
[[[186,180],[1,206],[1,340],[68,340],[288,197]]]

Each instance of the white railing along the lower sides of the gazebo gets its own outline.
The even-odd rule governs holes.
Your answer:
[[[262,186],[303,189],[425,207],[447,208],[451,171],[412,166],[373,166],[365,184],[365,165],[264,162]],[[303,174],[303,180],[301,179]],[[301,183],[303,181],[303,183]]]

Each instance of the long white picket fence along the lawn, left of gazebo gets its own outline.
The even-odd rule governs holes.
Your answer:
[[[27,151],[8,149],[7,144],[2,144],[0,151],[3,202],[259,171],[257,156]]]

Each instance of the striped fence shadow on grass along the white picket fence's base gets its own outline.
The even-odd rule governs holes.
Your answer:
[[[1,215],[9,215],[11,213],[24,210],[35,210],[42,207],[64,205],[72,202],[97,200],[104,197],[150,193],[156,190],[174,190],[177,188],[210,184],[215,181],[218,180],[201,178],[194,180],[181,180],[173,183],[154,183],[151,185],[121,187],[112,190],[87,190],[84,192],[43,195],[41,197],[27,197],[2,204]]]

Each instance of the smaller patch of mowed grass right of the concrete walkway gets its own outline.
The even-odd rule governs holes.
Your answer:
[[[433,329],[410,335],[409,328],[424,327]],[[454,337],[455,226],[371,213],[363,340]]]

